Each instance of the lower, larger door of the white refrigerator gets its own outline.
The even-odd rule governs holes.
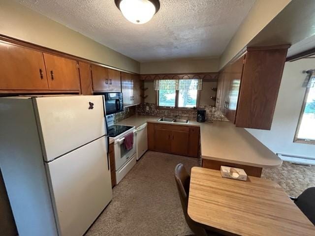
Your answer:
[[[106,137],[46,163],[61,236],[81,236],[112,199]]]

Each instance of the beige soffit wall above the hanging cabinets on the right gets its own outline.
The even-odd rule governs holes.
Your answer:
[[[291,0],[256,0],[220,58],[221,69],[235,57]],[[274,32],[276,33],[276,32]]]

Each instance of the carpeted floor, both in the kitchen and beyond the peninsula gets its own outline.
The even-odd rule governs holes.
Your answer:
[[[183,163],[190,172],[196,158],[148,151],[113,189],[113,200],[86,236],[177,236],[189,230],[174,180],[174,168]],[[315,166],[284,162],[263,170],[263,178],[277,181],[288,195],[298,196],[315,186]]]

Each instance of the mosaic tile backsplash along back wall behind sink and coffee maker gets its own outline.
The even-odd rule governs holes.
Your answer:
[[[147,106],[149,107],[148,111],[146,109]],[[206,110],[207,120],[228,121],[228,119],[225,118],[216,107],[200,106],[198,109]],[[178,116],[179,118],[184,118],[184,119],[196,119],[197,109],[188,109],[188,110],[157,109],[154,103],[141,103],[137,105],[136,114],[142,115],[142,116],[156,116],[156,117],[170,117],[170,118]]]

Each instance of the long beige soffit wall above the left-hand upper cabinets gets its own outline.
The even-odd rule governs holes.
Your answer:
[[[0,34],[139,73],[140,63],[13,0],[0,1]]]

